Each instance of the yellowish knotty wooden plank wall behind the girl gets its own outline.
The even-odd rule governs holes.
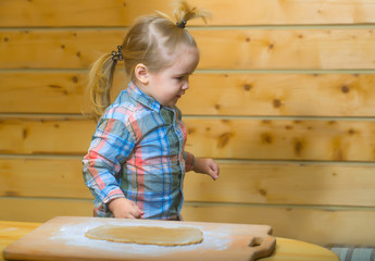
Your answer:
[[[280,237],[374,245],[375,2],[191,0],[200,65],[180,101],[187,221],[268,224]],[[0,1],[0,219],[91,215],[80,159],[88,67],[167,0]],[[116,76],[122,86],[123,75]]]

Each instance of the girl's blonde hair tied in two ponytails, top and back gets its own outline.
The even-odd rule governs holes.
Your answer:
[[[207,22],[209,15],[205,11],[191,8],[186,1],[179,1],[173,11],[175,22],[160,12],[136,20],[121,47],[120,60],[124,60],[126,74],[136,80],[134,71],[139,63],[145,64],[150,72],[159,72],[172,63],[171,54],[178,45],[197,47],[192,36],[184,29],[185,24],[197,17]],[[104,54],[91,66],[87,89],[92,114],[97,120],[110,105],[110,90],[117,60],[118,55]]]

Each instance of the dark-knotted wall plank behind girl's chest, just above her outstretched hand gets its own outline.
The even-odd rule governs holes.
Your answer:
[[[186,150],[198,157],[374,161],[375,122],[186,117]],[[79,117],[2,117],[1,153],[86,153],[96,124]]]

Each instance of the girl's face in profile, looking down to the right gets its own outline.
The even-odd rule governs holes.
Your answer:
[[[172,65],[149,73],[148,92],[165,107],[174,107],[189,88],[189,76],[199,63],[197,48],[180,46],[176,49]]]

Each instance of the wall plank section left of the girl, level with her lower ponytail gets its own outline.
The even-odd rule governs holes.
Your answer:
[[[0,113],[83,113],[88,111],[88,72],[0,72]],[[129,80],[118,70],[113,94]],[[114,100],[114,97],[113,97]]]

